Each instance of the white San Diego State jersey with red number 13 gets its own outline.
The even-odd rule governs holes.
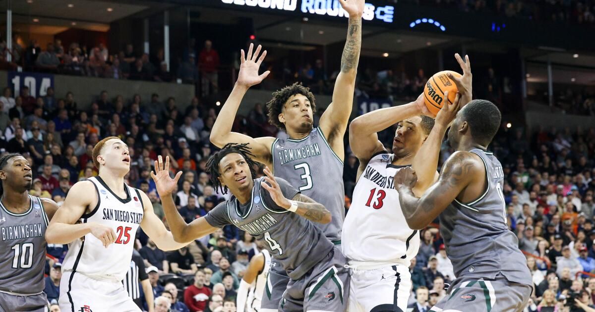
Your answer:
[[[419,233],[407,225],[393,184],[404,166],[392,165],[392,159],[388,153],[373,156],[353,190],[341,237],[350,265],[409,266],[419,250]]]

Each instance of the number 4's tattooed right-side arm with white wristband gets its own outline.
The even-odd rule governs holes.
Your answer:
[[[297,192],[295,192],[297,194],[292,197],[292,200],[287,199],[281,190],[281,185],[277,182],[277,179],[275,179],[268,167],[264,169],[264,173],[267,175],[267,177],[264,178],[266,182],[262,181],[261,185],[269,194],[271,194],[271,198],[279,207],[297,213],[297,215],[311,220],[312,222],[323,224],[331,222],[331,213],[322,206],[322,204]],[[287,182],[284,182],[284,184],[287,184],[287,187],[290,187]]]

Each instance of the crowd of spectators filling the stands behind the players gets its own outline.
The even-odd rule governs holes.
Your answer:
[[[69,64],[76,63],[77,70],[84,75],[112,77],[111,74],[117,73],[120,78],[158,80],[157,77],[165,73],[162,70],[167,69],[157,69],[148,55],[137,58],[131,46],[126,52],[110,56],[105,46],[100,45],[92,49],[88,59],[80,56],[81,51],[77,50],[80,48],[76,46],[64,52],[60,42],[56,42],[48,49],[47,53],[36,52],[35,62],[56,58],[60,62],[57,67],[65,70]],[[23,61],[28,57],[26,51],[21,55]],[[216,55],[212,43],[206,42],[198,56],[198,64],[213,62],[211,67],[202,67],[202,70],[211,73],[206,89],[214,92],[217,90],[217,72],[213,70],[218,62]],[[183,75],[176,76],[178,78],[196,77],[196,52],[189,48],[187,57],[188,67],[181,71]],[[149,73],[146,68],[151,66],[154,71],[137,77],[133,70],[121,71],[123,63],[137,65],[136,74]],[[327,77],[319,61],[314,67],[299,70],[297,77],[289,73],[288,81],[303,80],[320,93],[330,93],[336,78],[336,73]],[[425,81],[423,70],[414,78],[408,78],[403,72],[375,73],[367,69],[359,74],[356,92],[369,97],[414,99],[421,93]],[[23,87],[20,94],[12,94],[10,88],[5,88],[0,96],[0,153],[17,152],[27,157],[35,171],[32,195],[52,198],[62,204],[74,183],[98,174],[92,162],[92,147],[101,138],[113,135],[130,147],[130,172],[125,177],[126,182],[149,195],[156,215],[166,226],[163,207],[149,175],[158,155],[170,157],[172,174],[183,171],[174,200],[187,222],[204,216],[226,199],[214,190],[205,171],[206,160],[215,149],[209,142],[209,134],[217,111],[214,106],[203,104],[203,97],[174,99],[152,94],[151,99],[143,99],[136,94],[125,99],[106,90],[90,105],[79,105],[72,92],[63,99],[54,94],[49,88],[46,96],[35,98]],[[497,91],[493,96],[498,96]],[[593,100],[586,98],[580,94],[568,97],[575,99],[571,106],[574,109],[584,106],[576,103],[590,101],[587,106],[593,114]],[[88,109],[82,109],[87,106]],[[322,109],[315,115],[315,124],[321,113]],[[234,131],[253,137],[286,136],[267,120],[264,106],[257,103],[249,114],[236,118]],[[390,149],[393,135],[394,128],[389,128],[378,137]],[[503,215],[506,214],[506,222],[518,236],[519,247],[527,255],[533,273],[535,291],[526,311],[581,311],[577,310],[581,304],[585,305],[584,311],[593,311],[586,306],[592,306],[595,300],[595,128],[540,128],[531,132],[503,127],[490,149],[502,162],[506,177],[502,185],[506,201]],[[452,153],[445,144],[441,160]],[[345,155],[343,178],[348,212],[358,160],[348,146]],[[262,175],[261,168],[256,172]],[[445,285],[456,276],[440,238],[439,223],[428,226],[420,235],[421,247],[410,269],[413,279],[410,303],[412,307],[417,306],[418,311],[422,308],[427,311],[446,295]],[[140,231],[136,249],[157,298],[158,311],[227,312],[235,311],[234,297],[239,281],[260,246],[249,234],[226,226],[172,253],[156,248]],[[46,294],[52,301],[60,294],[60,263],[66,252],[66,245],[48,246],[51,261],[46,268]],[[575,302],[575,298],[581,303]]]

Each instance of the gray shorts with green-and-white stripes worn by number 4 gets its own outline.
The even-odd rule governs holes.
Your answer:
[[[339,248],[327,254],[324,259],[302,276],[290,279],[279,311],[332,311],[347,310],[349,297],[349,269],[347,259]]]

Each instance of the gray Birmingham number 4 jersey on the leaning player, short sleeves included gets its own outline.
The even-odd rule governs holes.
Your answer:
[[[310,220],[274,203],[261,187],[264,178],[254,180],[252,198],[240,204],[235,196],[212,209],[206,221],[216,228],[233,224],[264,242],[264,248],[277,259],[292,279],[301,278],[333,249],[334,245]],[[299,193],[284,179],[277,178],[286,198]]]

